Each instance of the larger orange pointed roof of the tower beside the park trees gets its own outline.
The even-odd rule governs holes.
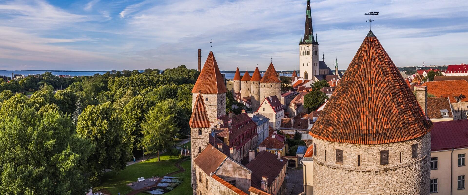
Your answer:
[[[198,93],[198,91],[202,91],[203,94],[222,94],[227,92],[226,84],[224,84],[224,79],[221,76],[221,72],[219,72],[218,63],[216,63],[212,51],[208,54],[202,72],[200,72],[197,82],[192,89],[192,93]]]

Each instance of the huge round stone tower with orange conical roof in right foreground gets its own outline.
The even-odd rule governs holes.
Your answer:
[[[369,31],[309,132],[314,195],[429,195],[431,126]]]

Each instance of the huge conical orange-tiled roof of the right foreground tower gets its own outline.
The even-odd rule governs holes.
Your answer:
[[[424,136],[431,126],[373,35],[364,39],[309,134],[331,142],[387,144]]]

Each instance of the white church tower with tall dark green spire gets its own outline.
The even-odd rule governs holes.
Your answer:
[[[310,0],[307,0],[306,28],[304,38],[299,43],[299,73],[304,79],[315,79],[319,75],[319,43],[314,39]]]

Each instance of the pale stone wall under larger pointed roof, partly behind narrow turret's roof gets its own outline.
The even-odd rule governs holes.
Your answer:
[[[192,94],[192,108],[195,105],[197,93]],[[219,116],[226,114],[226,94],[202,94],[205,101],[206,112],[210,122],[215,122]]]

